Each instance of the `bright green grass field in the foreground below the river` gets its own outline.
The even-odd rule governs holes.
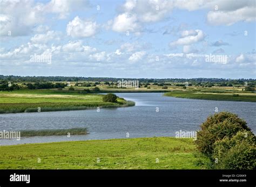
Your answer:
[[[171,137],[0,146],[0,169],[204,169],[205,163],[192,139]]]

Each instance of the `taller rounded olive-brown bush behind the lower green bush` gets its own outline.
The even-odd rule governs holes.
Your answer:
[[[212,157],[214,142],[225,136],[232,137],[240,130],[251,131],[246,121],[230,112],[219,112],[207,118],[201,124],[201,130],[197,132],[196,146],[198,150]]]

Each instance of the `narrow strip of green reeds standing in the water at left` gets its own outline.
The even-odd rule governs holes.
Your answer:
[[[51,129],[51,130],[26,130],[21,131],[21,136],[51,136],[51,135],[81,135],[87,134],[86,128]]]

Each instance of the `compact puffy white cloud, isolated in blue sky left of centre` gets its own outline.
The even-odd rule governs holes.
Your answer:
[[[78,16],[66,26],[66,32],[71,37],[84,38],[92,37],[97,32],[98,25],[96,22],[80,19]]]

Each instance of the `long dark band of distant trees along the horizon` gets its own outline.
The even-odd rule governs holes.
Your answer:
[[[14,76],[14,75],[0,75],[0,80],[14,81],[14,82],[47,82],[47,81],[63,81],[63,82],[79,82],[79,81],[91,81],[91,82],[117,82],[122,78],[111,78],[111,77],[65,77],[65,76]],[[240,78],[240,79],[229,79],[229,78],[124,78],[124,80],[137,80],[139,82],[149,83],[166,83],[166,82],[228,82],[231,84],[245,84],[245,82],[256,83],[253,78]]]

